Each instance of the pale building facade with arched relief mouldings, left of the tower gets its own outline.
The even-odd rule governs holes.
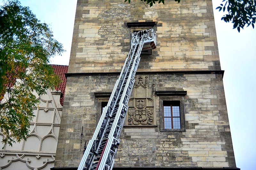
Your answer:
[[[0,143],[0,170],[39,170],[54,166],[62,114],[60,95],[60,91],[50,89],[44,95],[37,95],[40,103],[33,109],[35,117],[27,140],[5,147]],[[0,133],[0,140],[3,138]]]

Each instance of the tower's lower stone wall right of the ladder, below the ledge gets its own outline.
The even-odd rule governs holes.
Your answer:
[[[126,126],[115,166],[235,167],[222,75],[149,75],[149,84],[153,82],[156,91],[187,91],[185,132],[159,131],[161,117],[156,96],[157,128]]]

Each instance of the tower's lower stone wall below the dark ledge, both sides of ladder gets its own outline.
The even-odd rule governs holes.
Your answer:
[[[149,89],[187,91],[185,131],[160,132],[159,97],[154,96],[156,127],[125,126],[116,167],[235,167],[221,74],[150,74]],[[94,92],[111,92],[117,75],[68,77],[55,166],[78,166],[85,141],[97,124]],[[175,81],[179,79],[179,81]],[[88,88],[90,87],[90,88]],[[81,130],[84,137],[81,144]]]

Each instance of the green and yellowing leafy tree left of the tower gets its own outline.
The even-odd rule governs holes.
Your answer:
[[[48,64],[64,50],[52,31],[17,0],[0,6],[0,130],[4,144],[26,139],[38,100],[60,78]],[[17,81],[15,83],[15,80]]]

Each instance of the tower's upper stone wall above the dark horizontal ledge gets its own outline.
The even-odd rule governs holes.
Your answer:
[[[168,10],[167,10],[168,9]],[[157,22],[157,47],[138,71],[220,70],[211,0],[78,0],[69,72],[120,71],[130,50],[127,22]]]

